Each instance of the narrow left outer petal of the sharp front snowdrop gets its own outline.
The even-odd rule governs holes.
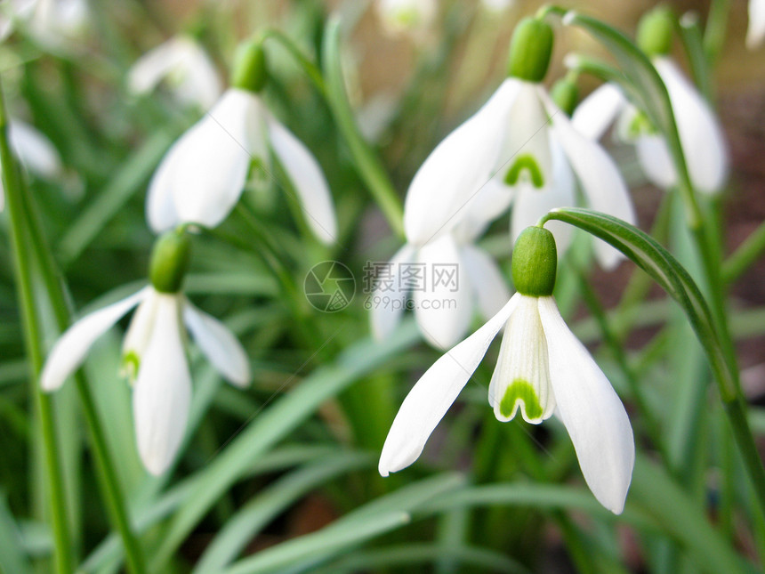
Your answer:
[[[518,303],[511,300],[487,323],[433,363],[404,399],[383,445],[378,470],[383,476],[415,462],[433,429],[446,415],[478,368],[488,346]]]

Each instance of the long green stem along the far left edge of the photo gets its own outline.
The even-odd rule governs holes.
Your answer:
[[[32,267],[26,246],[28,236],[24,224],[22,182],[20,172],[8,142],[8,118],[0,90],[0,164],[3,166],[3,184],[11,223],[12,253],[16,271],[16,287],[19,293],[24,343],[31,368],[30,382],[34,387],[35,404],[40,417],[43,434],[45,475],[51,502],[51,522],[55,548],[55,571],[68,574],[72,571],[73,555],[68,513],[64,496],[64,479],[60,461],[60,449],[56,437],[51,397],[44,394],[37,384],[43,368],[43,340],[39,331],[40,318],[34,300]]]

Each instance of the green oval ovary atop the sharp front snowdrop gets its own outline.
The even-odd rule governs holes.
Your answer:
[[[555,287],[558,250],[544,227],[527,227],[512,248],[512,282],[520,295],[546,297]]]

